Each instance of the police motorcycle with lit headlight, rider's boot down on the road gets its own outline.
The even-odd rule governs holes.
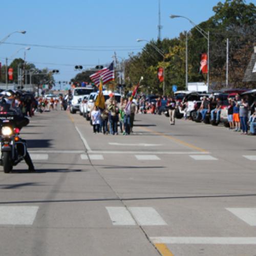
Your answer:
[[[28,125],[29,119],[19,114],[21,113],[17,113],[17,108],[13,108],[12,105],[0,103],[0,165],[4,167],[4,173],[10,173],[13,166],[22,160],[28,164],[29,171],[34,172],[26,141],[19,137],[20,129]]]

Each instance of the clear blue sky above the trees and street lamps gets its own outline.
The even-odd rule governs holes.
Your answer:
[[[170,14],[187,16],[198,24],[214,15],[212,7],[218,2],[161,0],[162,38],[173,38],[191,29],[187,20],[170,19]],[[249,2],[255,4],[255,0]],[[130,52],[136,54],[144,45],[136,42],[137,38],[150,40],[158,35],[158,0],[12,0],[1,1],[0,6],[0,40],[13,31],[26,30],[26,34],[15,33],[6,42],[88,47],[81,51],[31,46],[26,60],[37,68],[58,69],[56,81],[70,81],[77,74],[74,65],[90,68],[110,63],[114,51],[122,58],[127,58]],[[0,62],[4,63],[5,57],[22,47],[25,46],[0,45]],[[15,55],[23,56],[24,50]]]

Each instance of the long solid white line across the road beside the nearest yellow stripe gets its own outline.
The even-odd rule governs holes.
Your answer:
[[[153,243],[255,245],[256,237],[151,237]]]

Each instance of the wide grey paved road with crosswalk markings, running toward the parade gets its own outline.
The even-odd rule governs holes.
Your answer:
[[[1,255],[256,255],[255,137],[137,115],[131,136],[36,114],[0,173]]]

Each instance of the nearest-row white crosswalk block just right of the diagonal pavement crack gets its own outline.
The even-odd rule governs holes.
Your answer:
[[[152,207],[129,207],[133,217],[142,226],[167,225],[158,212]]]

